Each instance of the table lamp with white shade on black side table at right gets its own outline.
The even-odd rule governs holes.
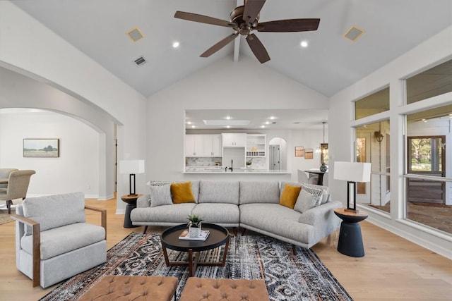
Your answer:
[[[334,179],[347,181],[347,209],[345,211],[358,212],[356,209],[356,183],[370,182],[370,163],[334,162]]]

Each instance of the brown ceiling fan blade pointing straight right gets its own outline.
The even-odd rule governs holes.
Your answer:
[[[299,32],[317,30],[320,19],[287,19],[259,23],[259,32]]]

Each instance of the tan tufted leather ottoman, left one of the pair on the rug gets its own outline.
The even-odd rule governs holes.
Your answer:
[[[176,277],[109,275],[78,300],[169,301],[172,297],[176,298],[176,288]]]

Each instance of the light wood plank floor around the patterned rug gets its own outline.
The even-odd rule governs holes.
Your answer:
[[[87,199],[87,204],[107,209],[109,248],[128,233],[141,233],[142,228],[123,228],[124,216],[114,214],[114,199]],[[87,219],[100,224],[97,213],[87,211]],[[451,260],[367,221],[361,226],[364,257],[340,254],[337,240],[333,245],[322,241],[312,248],[354,300],[452,300]],[[0,225],[0,300],[38,300],[56,285],[47,290],[32,288],[30,279],[16,269],[14,233],[15,223]]]

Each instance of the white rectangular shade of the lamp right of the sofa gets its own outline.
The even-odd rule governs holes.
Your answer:
[[[370,163],[334,162],[334,179],[350,182],[370,182]]]

